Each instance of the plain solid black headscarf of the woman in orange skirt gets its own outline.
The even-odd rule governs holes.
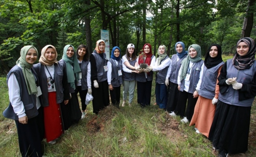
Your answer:
[[[218,49],[218,55],[214,58],[210,57],[210,49],[212,48],[212,46],[216,46]],[[205,66],[207,67],[207,69],[217,66],[219,63],[223,62],[221,54],[222,54],[222,51],[221,51],[221,46],[219,44],[212,44],[209,47],[208,52],[205,55]]]

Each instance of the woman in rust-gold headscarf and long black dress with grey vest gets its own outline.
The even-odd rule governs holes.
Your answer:
[[[91,83],[93,83],[92,105],[93,113],[96,114],[110,104],[107,77],[108,59],[106,58],[105,46],[106,44],[103,40],[98,40],[95,50],[90,55]]]

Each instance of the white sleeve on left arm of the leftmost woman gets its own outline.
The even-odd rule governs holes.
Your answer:
[[[9,88],[9,100],[13,106],[14,112],[19,118],[26,116],[24,104],[20,97],[20,86],[14,73],[11,73],[7,84]]]

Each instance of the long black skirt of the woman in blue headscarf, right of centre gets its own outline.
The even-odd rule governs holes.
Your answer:
[[[166,110],[170,113],[176,110],[177,103],[179,100],[178,84],[169,81],[167,97],[168,99],[166,104]]]

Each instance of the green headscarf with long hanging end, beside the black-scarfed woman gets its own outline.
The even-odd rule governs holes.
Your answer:
[[[194,58],[191,58],[190,55],[188,55],[187,58],[185,58],[181,62],[181,65],[182,65],[183,68],[181,69],[180,80],[182,80],[182,79],[184,79],[186,77],[189,61],[190,62],[199,62],[202,59],[202,57],[201,57],[201,47],[199,45],[197,45],[197,44],[190,45],[188,47],[188,54],[189,54],[190,47],[193,47],[196,50],[197,55]]]

